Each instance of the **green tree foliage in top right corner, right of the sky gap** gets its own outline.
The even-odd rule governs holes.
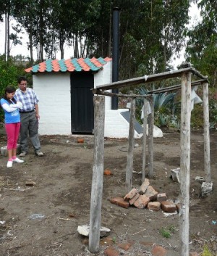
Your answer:
[[[217,79],[217,10],[216,0],[195,1],[202,20],[187,33],[186,56],[197,70],[208,75],[211,86]]]

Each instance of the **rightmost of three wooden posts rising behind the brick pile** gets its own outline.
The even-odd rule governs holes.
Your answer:
[[[151,113],[148,115],[148,177],[153,178],[153,123],[154,123],[154,105],[153,105],[153,97],[150,97],[150,109]]]

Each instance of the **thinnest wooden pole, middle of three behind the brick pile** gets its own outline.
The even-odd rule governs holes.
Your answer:
[[[145,181],[145,165],[146,165],[146,129],[147,129],[147,99],[144,98],[143,104],[143,144],[142,144],[142,183]]]

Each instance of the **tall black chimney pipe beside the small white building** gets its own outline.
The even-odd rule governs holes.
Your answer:
[[[119,80],[119,11],[118,7],[113,8],[112,82]],[[112,92],[118,94],[119,89],[114,88]],[[118,97],[111,97],[111,110],[117,110],[118,103]]]

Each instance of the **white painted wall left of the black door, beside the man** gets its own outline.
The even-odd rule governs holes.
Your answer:
[[[71,134],[70,73],[37,73],[33,90],[39,98],[39,133]]]

